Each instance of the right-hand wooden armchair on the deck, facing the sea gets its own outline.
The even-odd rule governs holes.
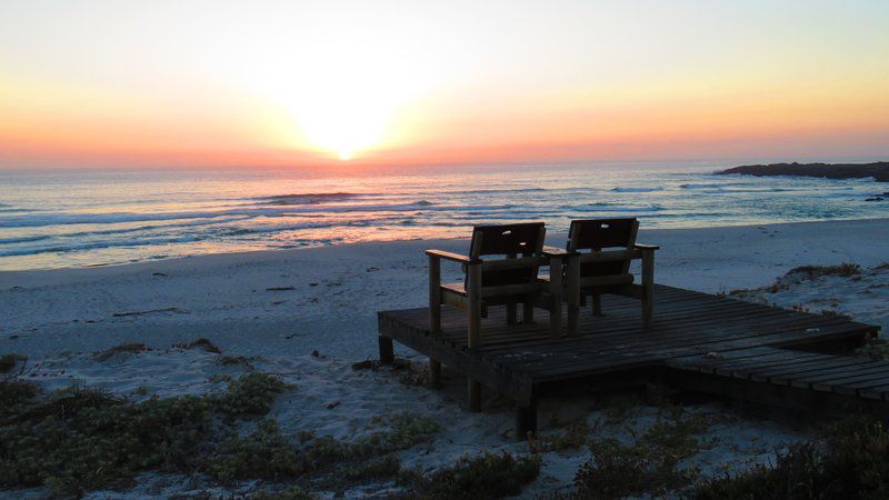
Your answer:
[[[655,290],[655,250],[638,244],[639,221],[628,219],[573,220],[568,232],[568,334],[578,334],[578,313],[586,297],[592,298],[593,316],[602,316],[603,293],[640,299],[642,328],[651,329]],[[630,262],[641,259],[641,282],[630,273]]]

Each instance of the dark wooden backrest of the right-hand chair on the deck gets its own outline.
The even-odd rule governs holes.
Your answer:
[[[639,221],[626,219],[572,220],[568,231],[568,251],[600,251],[606,249],[631,249],[636,244]],[[587,262],[580,266],[581,278],[626,274],[630,260],[611,262]]]

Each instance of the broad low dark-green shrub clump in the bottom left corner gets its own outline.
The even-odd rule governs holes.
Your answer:
[[[210,403],[181,397],[124,403],[59,391],[0,428],[0,486],[77,493],[146,469],[188,470],[211,430]]]

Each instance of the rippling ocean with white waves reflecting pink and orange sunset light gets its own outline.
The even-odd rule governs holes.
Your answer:
[[[696,228],[889,217],[872,180],[717,176],[733,163],[0,171],[0,270],[468,237],[473,224],[637,217]]]

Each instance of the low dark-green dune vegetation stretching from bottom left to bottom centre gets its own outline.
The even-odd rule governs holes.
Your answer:
[[[268,488],[257,499],[309,499],[309,491],[380,481],[399,484],[408,498],[502,498],[520,493],[539,472],[537,454],[483,453],[424,476],[402,468],[397,452],[441,430],[429,417],[374,417],[373,431],[351,441],[311,431],[289,434],[268,414],[294,386],[256,371],[211,381],[226,383],[224,390],[134,402],[96,388],[43,393],[36,383],[3,379],[0,487],[79,497],[126,490],[137,474],[153,471],[199,472],[222,486],[260,480]]]

